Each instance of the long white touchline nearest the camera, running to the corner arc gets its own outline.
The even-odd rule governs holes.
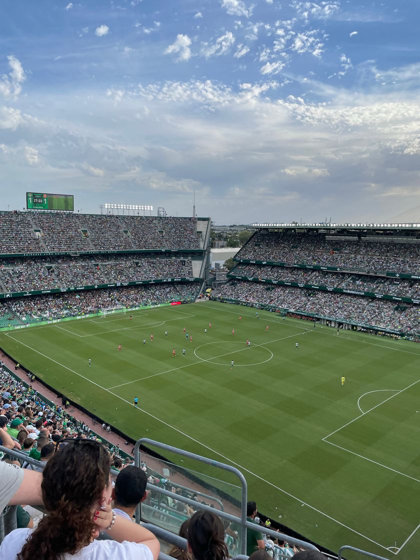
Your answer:
[[[109,393],[110,395],[115,396],[117,399],[122,400],[124,403],[127,403],[128,405],[130,405],[131,407],[134,407],[134,404],[129,402],[127,399],[124,399],[122,396],[117,395],[116,393],[113,393],[112,391],[110,391],[109,389],[105,389],[105,387],[102,387],[101,385],[99,385],[98,383],[96,383],[95,381],[92,381],[91,379],[88,379],[87,377],[78,374],[77,371],[72,370],[71,368],[64,366],[62,363],[57,362],[57,360],[54,360],[53,358],[51,358],[50,356],[46,356],[46,354],[43,354],[42,352],[39,352],[39,350],[36,350],[35,348],[32,348],[31,346],[29,346],[28,344],[25,344],[24,342],[21,342],[20,340],[16,340],[15,338],[13,338],[10,334],[5,333],[7,337],[11,338],[12,340],[15,340],[15,342],[18,342],[19,344],[22,344],[22,346],[26,346],[26,348],[29,348],[30,350],[32,350],[33,352],[36,352],[37,354],[40,354],[40,356],[43,356],[44,358],[46,358],[47,360],[50,360],[54,363],[57,363],[57,365],[65,368],[68,371],[71,371],[73,374],[82,377],[82,379],[85,379],[86,381],[92,383],[93,385],[95,385],[96,387],[99,387],[100,389],[106,391],[107,393]],[[165,426],[167,426],[168,428],[171,428],[171,430],[174,430],[175,432],[180,433],[180,435],[186,437],[187,439],[193,441],[195,444],[198,444],[202,447],[204,447],[204,449],[207,449],[208,451],[211,451],[212,453],[218,455],[219,457],[221,457],[222,459],[225,459],[226,461],[228,461],[229,463],[231,463],[232,465],[236,465],[237,467],[239,467],[241,470],[243,470],[244,472],[252,475],[255,478],[258,478],[259,480],[262,480],[262,482],[265,482],[266,484],[268,484],[269,486],[271,486],[272,488],[276,488],[279,492],[282,492],[283,494],[286,494],[286,496],[289,496],[290,498],[292,498],[293,500],[298,501],[299,503],[309,507],[311,510],[316,511],[318,514],[323,515],[324,517],[326,517],[327,519],[329,519],[330,521],[333,521],[335,523],[337,523],[338,525],[344,527],[345,529],[348,529],[349,531],[351,531],[352,533],[361,536],[363,539],[368,540],[371,543],[376,544],[378,547],[383,548],[384,550],[388,550],[388,548],[386,548],[384,545],[377,543],[376,540],[373,540],[371,538],[369,538],[366,535],[363,535],[363,533],[360,533],[359,531],[356,531],[356,529],[352,529],[351,527],[349,527],[348,525],[342,523],[341,521],[338,521],[337,519],[334,519],[334,517],[325,514],[323,511],[318,510],[318,508],[311,506],[309,503],[301,500],[300,498],[294,496],[293,494],[291,494],[290,492],[287,492],[286,490],[283,490],[283,488],[280,488],[279,486],[276,486],[276,484],[273,484],[272,482],[269,482],[269,480],[264,479],[263,477],[260,477],[259,474],[253,473],[251,470],[246,469],[244,466],[240,465],[239,463],[236,463],[235,461],[232,461],[232,459],[226,457],[226,455],[222,455],[220,452],[212,449],[212,447],[209,447],[206,444],[203,444],[202,441],[196,440],[194,437],[189,436],[187,433],[179,430],[179,428],[176,428],[175,426],[172,426],[172,424],[169,424],[168,422],[165,422],[164,420],[162,420],[161,418],[158,418],[157,416],[155,416],[154,414],[151,414],[150,412],[147,412],[147,410],[144,410],[142,408],[138,408],[138,410],[141,410],[144,414],[147,414],[147,416],[150,416],[151,418],[155,419],[157,422],[161,422],[162,424],[164,424]],[[390,552],[388,550],[388,552]],[[393,553],[395,554],[395,553]]]

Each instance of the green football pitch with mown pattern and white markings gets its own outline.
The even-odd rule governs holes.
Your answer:
[[[259,510],[307,538],[417,558],[420,347],[259,316],[200,302],[14,330],[0,346],[129,436],[237,466]]]

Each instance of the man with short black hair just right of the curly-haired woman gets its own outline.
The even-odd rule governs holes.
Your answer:
[[[115,479],[112,493],[115,514],[133,521],[136,507],[146,500],[146,484],[146,473],[139,466],[126,466]]]

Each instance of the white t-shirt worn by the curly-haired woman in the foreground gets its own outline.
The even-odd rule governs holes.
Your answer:
[[[15,529],[4,537],[0,545],[0,558],[16,560],[17,554],[24,547],[27,536],[32,529]],[[153,560],[152,552],[144,544],[129,543],[124,540],[94,540],[76,554],[64,554],[63,560]]]

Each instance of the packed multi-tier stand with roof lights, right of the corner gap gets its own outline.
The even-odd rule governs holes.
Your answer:
[[[217,297],[417,340],[420,244],[415,232],[396,242],[343,236],[258,230],[235,256],[237,264],[228,274],[235,279]]]

